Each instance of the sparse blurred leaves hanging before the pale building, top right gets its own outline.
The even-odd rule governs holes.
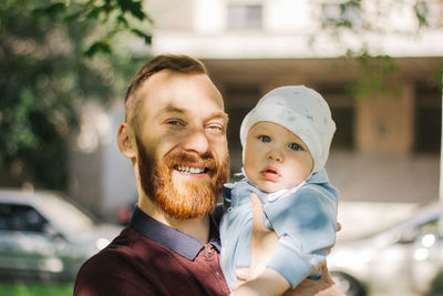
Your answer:
[[[380,4],[378,4],[380,3]],[[369,98],[372,94],[379,95],[394,95],[402,96],[402,91],[395,85],[389,84],[388,81],[400,72],[399,67],[394,60],[389,55],[378,55],[377,49],[371,48],[371,53],[368,49],[368,43],[364,42],[365,35],[372,33],[382,35],[392,33],[404,37],[418,37],[423,28],[441,28],[441,24],[433,20],[432,3],[425,0],[415,0],[405,3],[402,0],[394,1],[378,1],[373,3],[375,11],[372,13],[364,13],[364,8],[361,6],[361,0],[347,0],[340,3],[331,2],[324,3],[323,9],[329,6],[330,9],[328,17],[323,19],[323,29],[327,30],[338,43],[341,43],[343,35],[356,34],[360,44],[353,44],[348,48],[344,58],[351,63],[357,62],[360,69],[360,74],[356,80],[348,85],[348,92],[356,99]],[[416,28],[408,28],[404,30],[393,29],[389,25],[383,27],[379,24],[380,20],[387,19],[390,16],[390,10],[398,9],[398,7],[411,6],[418,25]],[[327,10],[328,11],[328,10]],[[378,20],[380,18],[380,20]],[[361,38],[360,38],[361,37]],[[315,40],[312,40],[313,42]],[[441,65],[436,67],[437,74],[435,83],[440,84]]]

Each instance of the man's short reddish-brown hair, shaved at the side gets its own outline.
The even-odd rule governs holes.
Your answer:
[[[146,62],[131,80],[125,95],[125,121],[136,130],[140,125],[138,110],[141,110],[143,100],[137,99],[135,93],[151,75],[162,70],[184,74],[208,74],[206,67],[199,60],[187,55],[164,54]]]

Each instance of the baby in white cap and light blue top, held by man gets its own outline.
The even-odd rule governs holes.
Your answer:
[[[250,265],[250,193],[260,198],[265,225],[278,235],[278,244],[262,272],[238,290],[281,295],[320,275],[318,267],[336,241],[338,197],[324,171],[334,131],[323,98],[303,85],[270,91],[245,116],[246,178],[225,185],[220,222],[220,264],[229,287],[237,282],[235,271]],[[260,285],[265,276],[271,280]]]

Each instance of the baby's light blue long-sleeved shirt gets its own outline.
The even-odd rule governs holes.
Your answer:
[[[248,180],[225,185],[225,211],[220,222],[220,265],[230,288],[237,282],[235,271],[249,266],[253,208],[250,193],[262,202],[265,225],[279,237],[267,267],[280,273],[296,287],[321,264],[336,242],[336,188],[329,185],[324,170],[312,174],[296,192],[279,196],[261,192]]]

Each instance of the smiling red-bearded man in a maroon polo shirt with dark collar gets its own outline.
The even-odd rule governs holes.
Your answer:
[[[138,204],[82,266],[74,295],[228,295],[210,214],[229,172],[220,93],[198,60],[159,55],[132,80],[125,112],[117,143],[132,160]]]

